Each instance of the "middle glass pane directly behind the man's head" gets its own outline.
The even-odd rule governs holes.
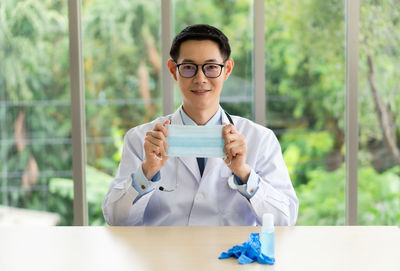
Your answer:
[[[224,84],[221,106],[230,114],[248,119],[254,119],[252,8],[252,0],[173,1],[175,35],[188,25],[210,24],[228,37],[235,67]],[[179,107],[181,94],[177,86],[174,95],[175,106]]]

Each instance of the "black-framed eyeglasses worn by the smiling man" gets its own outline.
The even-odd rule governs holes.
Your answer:
[[[198,70],[199,66],[201,66],[201,70],[204,75],[208,78],[217,78],[221,75],[222,68],[225,67],[223,64],[217,63],[205,63],[205,64],[194,64],[194,63],[181,63],[176,64],[178,68],[179,74],[184,78],[192,78],[194,77]]]

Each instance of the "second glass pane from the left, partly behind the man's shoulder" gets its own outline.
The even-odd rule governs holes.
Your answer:
[[[124,134],[161,115],[160,1],[83,1],[89,224],[116,174]],[[163,64],[164,65],[164,64]]]

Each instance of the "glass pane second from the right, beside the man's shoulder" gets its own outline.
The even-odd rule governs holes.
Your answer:
[[[345,1],[265,1],[267,126],[299,198],[298,225],[345,221]]]

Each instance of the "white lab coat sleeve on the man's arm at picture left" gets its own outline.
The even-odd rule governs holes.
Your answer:
[[[142,225],[144,210],[154,193],[143,194],[132,186],[131,174],[139,174],[144,156],[143,139],[135,130],[124,138],[121,162],[103,200],[103,214],[109,225]]]

